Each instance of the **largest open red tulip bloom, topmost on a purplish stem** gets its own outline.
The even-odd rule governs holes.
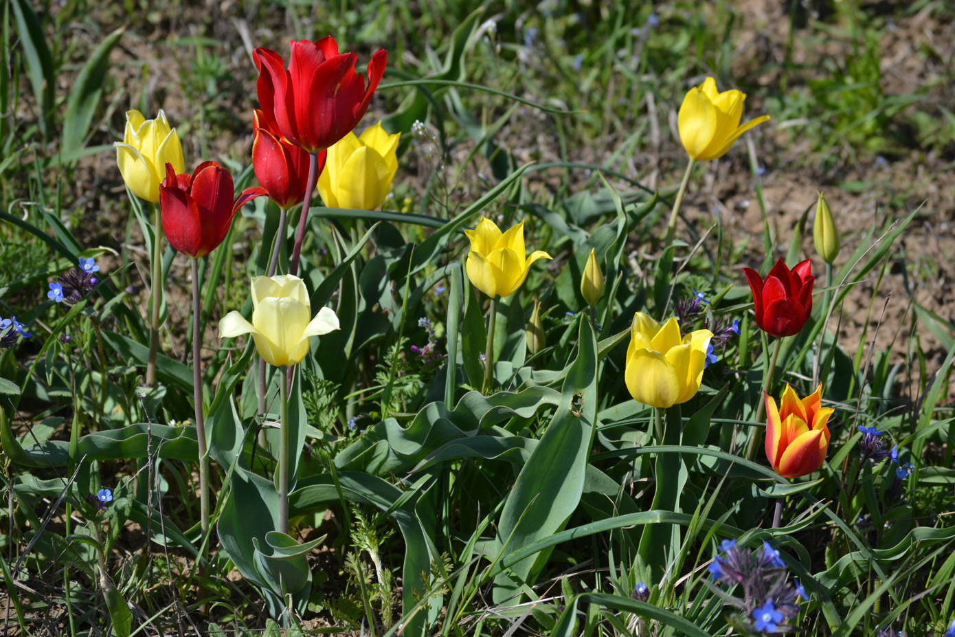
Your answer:
[[[385,73],[388,52],[380,49],[371,56],[366,82],[354,71],[358,55],[338,53],[330,35],[317,42],[292,41],[289,46],[287,70],[278,53],[255,50],[260,123],[268,130],[280,131],[308,153],[317,153],[348,135],[365,115]]]

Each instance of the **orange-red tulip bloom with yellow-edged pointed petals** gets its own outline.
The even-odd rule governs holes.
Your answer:
[[[807,476],[822,466],[829,450],[829,416],[822,407],[822,385],[816,392],[799,398],[786,385],[779,407],[766,395],[766,457],[783,478]]]

